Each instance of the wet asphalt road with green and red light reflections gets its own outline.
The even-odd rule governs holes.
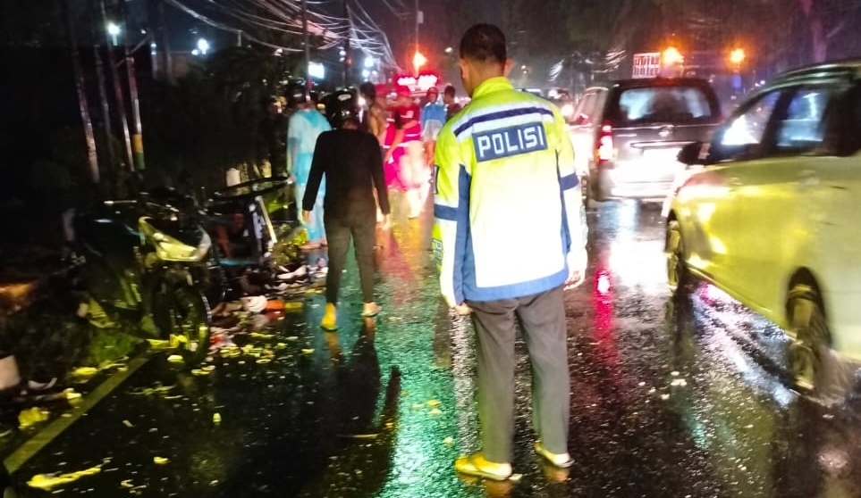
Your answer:
[[[522,479],[455,475],[458,454],[477,450],[474,338],[437,296],[426,215],[395,217],[376,320],[359,318],[349,267],[339,332],[317,327],[312,294],[207,375],[156,354],[15,480],[94,469],[23,495],[99,498],[861,496],[861,408],[787,390],[781,331],[713,288],[673,302],[658,206],[607,203],[589,222],[589,278],[567,295],[570,472],[531,453],[521,357]]]

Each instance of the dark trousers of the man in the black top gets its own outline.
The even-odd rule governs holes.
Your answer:
[[[350,238],[359,263],[359,281],[362,286],[362,299],[365,303],[374,302],[374,244],[376,243],[376,213],[371,212],[367,221],[348,225],[343,220],[325,217],[325,237],[329,245],[329,272],[325,278],[325,300],[338,303],[341,290],[341,274],[347,262]]]

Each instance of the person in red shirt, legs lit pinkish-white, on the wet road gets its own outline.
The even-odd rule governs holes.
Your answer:
[[[421,213],[421,187],[425,168],[425,148],[421,142],[421,110],[412,99],[408,87],[398,87],[398,101],[394,109],[394,124],[397,132],[389,150],[385,152],[385,161],[401,147],[404,154],[398,164],[398,175],[406,190],[405,195],[409,204],[410,219],[418,218]]]

